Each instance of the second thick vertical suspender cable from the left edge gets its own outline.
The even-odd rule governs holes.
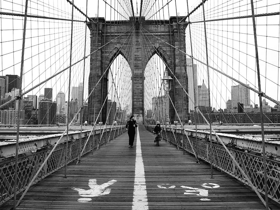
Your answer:
[[[72,2],[72,19],[71,19],[71,40],[70,40],[70,67],[69,67],[69,85],[68,85],[68,105],[67,105],[67,134],[66,134],[66,148],[65,148],[65,172],[64,178],[67,174],[67,156],[68,156],[68,130],[69,130],[69,108],[70,108],[70,88],[71,88],[71,64],[72,64],[72,44],[73,44],[73,12],[74,0]]]

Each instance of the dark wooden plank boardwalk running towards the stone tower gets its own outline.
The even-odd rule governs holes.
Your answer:
[[[211,179],[208,164],[196,163],[194,156],[183,155],[182,150],[166,142],[157,147],[154,136],[144,126],[138,128],[145,172],[141,184],[146,186],[146,191],[138,192],[143,196],[143,200],[138,196],[140,206],[147,198],[142,209],[264,209],[248,187],[217,170]],[[133,148],[128,148],[125,133],[93,155],[82,157],[80,164],[70,164],[67,179],[61,169],[40,181],[29,189],[17,209],[141,209],[133,203],[133,193],[137,194],[135,170],[141,169],[135,167],[136,136]],[[73,188],[84,189],[80,192],[84,196]],[[0,209],[11,207],[12,200]],[[271,204],[270,208],[279,206]]]

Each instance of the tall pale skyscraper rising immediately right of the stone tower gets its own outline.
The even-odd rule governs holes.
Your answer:
[[[189,97],[193,101],[197,101],[197,65],[194,64],[194,69],[192,65],[192,59],[187,58],[187,74],[188,74],[188,84],[189,84]],[[194,89],[195,88],[195,89]],[[194,110],[194,103],[189,99],[189,111]]]

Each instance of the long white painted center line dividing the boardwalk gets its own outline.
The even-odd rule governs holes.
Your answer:
[[[149,209],[146,191],[146,180],[144,172],[144,164],[142,159],[141,142],[139,130],[137,127],[137,143],[136,143],[136,160],[135,160],[135,178],[132,210]]]

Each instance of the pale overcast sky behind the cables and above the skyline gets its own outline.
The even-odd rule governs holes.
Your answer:
[[[23,13],[23,0],[1,0],[2,12]],[[105,17],[106,20],[125,20],[130,15],[129,12],[123,10],[130,7],[128,0],[107,0],[114,10],[105,4],[103,0],[88,1],[88,16]],[[118,2],[122,3],[122,7]],[[137,4],[136,4],[137,2]],[[134,12],[140,12],[140,0],[133,0]],[[156,4],[151,8],[151,2],[145,9],[146,2],[143,1],[143,13],[146,19],[168,19],[169,16],[180,16],[187,14],[186,0],[171,1],[168,7],[164,7],[160,12],[155,12],[162,6],[161,1],[156,1]],[[165,5],[167,0],[163,0]],[[198,5],[200,1],[189,1],[189,10],[191,11]],[[77,7],[86,12],[86,0],[74,2]],[[158,5],[159,3],[159,5]],[[177,6],[177,7],[175,7]],[[261,0],[255,5],[255,14],[279,12],[279,0]],[[29,14],[61,17],[71,19],[71,5],[67,1],[32,1],[28,9]],[[211,9],[209,9],[211,8]],[[169,12],[168,12],[169,9]],[[206,19],[217,19],[225,17],[235,17],[250,15],[249,0],[215,0],[205,3]],[[78,11],[74,11],[75,20],[85,20],[85,17]],[[155,14],[154,16],[152,16]],[[137,15],[137,14],[136,14]],[[138,14],[139,15],[139,14]],[[279,93],[279,22],[280,17],[266,16],[256,18],[257,34],[258,34],[258,50],[260,58],[261,86],[262,91],[268,96],[276,100],[280,100]],[[22,28],[23,17],[16,16],[1,16],[1,52],[0,58],[0,75],[18,74],[20,75],[20,60],[22,46]],[[69,66],[70,56],[70,21],[54,21],[47,19],[27,19],[26,31],[26,49],[24,63],[23,88],[24,91],[35,86],[44,79],[50,77],[55,72]],[[31,20],[31,21],[30,21]],[[194,12],[190,17],[190,21],[203,20],[202,8]],[[206,51],[204,40],[204,25],[203,23],[191,24],[191,35],[193,40],[194,57],[206,63]],[[87,30],[86,39],[86,55],[90,52],[90,35]],[[258,89],[254,37],[252,18],[244,18],[227,21],[212,21],[207,22],[207,41],[208,41],[208,56],[209,65],[221,70],[228,75],[250,84],[251,87]],[[74,22],[73,30],[73,56],[72,62],[76,62],[84,57],[84,42],[85,42],[85,24],[83,22]],[[186,52],[190,52],[189,30],[186,30]],[[198,68],[198,85],[205,81],[208,86],[207,68],[205,65],[195,61]],[[162,65],[159,65],[160,67]],[[163,66],[164,68],[164,66]],[[72,69],[71,86],[78,86],[82,82],[83,62],[78,63]],[[160,70],[163,72],[163,69]],[[210,69],[210,90],[212,106],[218,108],[226,108],[225,102],[231,98],[231,86],[237,85],[231,79],[222,76]],[[89,59],[86,59],[85,83],[87,84],[89,75]],[[28,95],[34,94],[39,96],[44,94],[44,87],[53,88],[53,99],[56,93],[63,91],[68,94],[68,76],[69,71],[54,77],[49,82],[41,85],[33,90]],[[85,96],[87,94],[87,85],[85,85]],[[250,92],[251,104],[259,104],[257,94]],[[68,97],[66,96],[66,99]],[[71,98],[71,97],[70,97]],[[267,100],[268,101],[268,100]],[[269,105],[274,104],[268,101]]]

